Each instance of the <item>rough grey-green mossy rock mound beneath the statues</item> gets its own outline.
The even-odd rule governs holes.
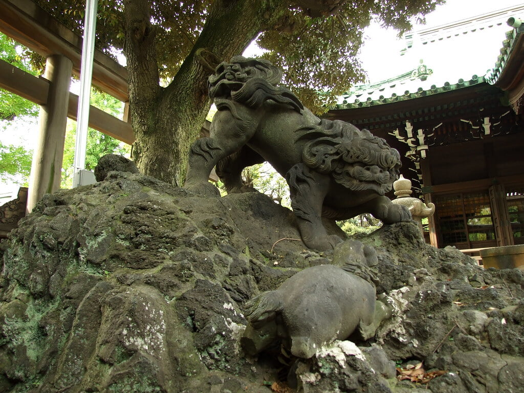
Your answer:
[[[377,250],[377,295],[392,309],[377,335],[294,362],[239,346],[248,299],[332,259],[293,240],[287,209],[127,172],[46,195],[1,244],[0,391],[286,391],[276,383],[294,363],[306,393],[521,392],[522,271],[483,270],[417,231],[360,239]],[[420,362],[447,373],[395,378],[395,363]]]

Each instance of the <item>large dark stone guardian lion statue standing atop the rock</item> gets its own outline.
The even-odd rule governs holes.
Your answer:
[[[216,165],[228,192],[242,191],[242,169],[268,161],[289,184],[302,240],[330,249],[322,217],[344,220],[371,213],[385,224],[411,219],[384,194],[398,178],[400,155],[384,139],[342,121],[320,119],[298,97],[277,86],[282,72],[270,62],[236,56],[209,77],[217,112],[209,138],[191,148],[186,188],[218,194],[208,182]]]

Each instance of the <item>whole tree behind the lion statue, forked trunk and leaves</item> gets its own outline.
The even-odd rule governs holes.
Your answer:
[[[84,0],[35,0],[79,34]],[[139,169],[182,185],[209,109],[206,79],[253,39],[313,110],[364,79],[358,49],[372,18],[399,31],[443,0],[99,0],[96,46],[123,51]],[[167,86],[160,80],[168,81]],[[165,87],[163,87],[165,86]],[[326,92],[320,99],[318,91]]]

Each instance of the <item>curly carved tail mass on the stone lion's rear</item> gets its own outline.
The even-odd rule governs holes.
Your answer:
[[[319,124],[301,127],[296,132],[302,133],[299,140],[307,140],[302,151],[305,165],[330,174],[350,190],[374,190],[384,195],[398,179],[398,151],[367,129],[321,119]]]

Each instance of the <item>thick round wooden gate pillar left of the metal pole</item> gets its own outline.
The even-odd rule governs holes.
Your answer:
[[[39,134],[29,177],[27,213],[31,212],[43,194],[60,188],[72,69],[71,60],[62,55],[53,54],[47,58],[44,77],[50,81],[49,93],[47,103],[40,106]]]

